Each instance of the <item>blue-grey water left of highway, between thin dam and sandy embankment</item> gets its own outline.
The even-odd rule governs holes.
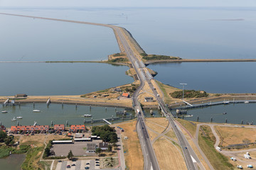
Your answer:
[[[127,69],[99,63],[0,63],[0,96],[87,94],[132,83]]]

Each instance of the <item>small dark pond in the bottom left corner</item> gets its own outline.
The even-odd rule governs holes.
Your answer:
[[[11,154],[9,157],[0,159],[1,169],[20,170],[25,154]]]

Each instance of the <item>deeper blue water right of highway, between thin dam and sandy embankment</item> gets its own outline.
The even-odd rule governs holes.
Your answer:
[[[182,89],[209,93],[256,93],[256,62],[183,62],[151,64],[155,79]]]

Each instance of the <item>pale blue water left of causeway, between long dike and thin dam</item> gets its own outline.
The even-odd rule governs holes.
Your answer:
[[[96,61],[119,52],[110,28],[5,15],[0,22],[0,61]]]

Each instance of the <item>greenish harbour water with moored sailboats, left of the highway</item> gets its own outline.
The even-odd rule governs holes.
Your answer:
[[[37,109],[33,109],[33,108]],[[134,118],[134,111],[127,109],[127,115],[117,115],[116,112],[124,112],[125,108],[83,106],[72,104],[50,103],[21,103],[18,106],[0,106],[0,110],[8,113],[0,115],[1,125],[103,125],[108,120],[110,123],[122,122]],[[37,110],[36,112],[32,112]],[[38,112],[40,111],[40,112]],[[85,114],[86,113],[86,114]]]

